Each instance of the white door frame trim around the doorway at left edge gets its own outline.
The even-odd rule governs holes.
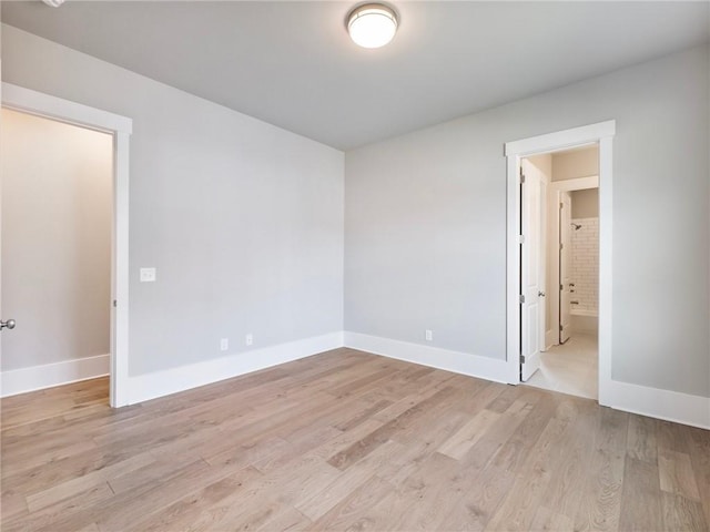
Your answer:
[[[113,136],[113,223],[111,231],[112,407],[128,405],[129,382],[129,137],[133,121],[100,109],[2,83],[2,106],[109,133]]]

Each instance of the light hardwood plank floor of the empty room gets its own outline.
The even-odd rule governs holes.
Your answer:
[[[709,530],[710,432],[349,349],[2,401],[2,530]]]

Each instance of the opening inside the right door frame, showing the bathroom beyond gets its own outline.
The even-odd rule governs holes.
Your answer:
[[[598,399],[599,146],[536,154],[523,158],[520,167],[527,187],[521,219],[529,234],[538,234],[536,242],[527,243],[521,267],[531,272],[534,265],[539,272],[532,290],[537,294],[527,294],[525,286],[520,293],[526,298],[537,295],[540,307],[535,335],[539,364],[528,375],[523,370],[521,380]],[[521,285],[530,284],[531,277],[524,274]]]

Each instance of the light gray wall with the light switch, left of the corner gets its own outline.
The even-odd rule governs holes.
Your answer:
[[[133,119],[131,375],[342,330],[342,152],[8,25],[2,80]]]

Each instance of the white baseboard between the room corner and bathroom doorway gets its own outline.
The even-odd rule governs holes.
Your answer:
[[[508,382],[508,362],[468,352],[409,344],[359,332],[344,332],[345,347],[374,352],[407,362],[420,364],[455,374],[478,377],[495,382]]]

